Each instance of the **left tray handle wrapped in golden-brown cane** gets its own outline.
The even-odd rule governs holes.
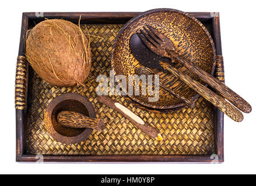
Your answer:
[[[27,64],[24,56],[17,57],[15,76],[15,109],[24,110],[26,106],[26,75]]]

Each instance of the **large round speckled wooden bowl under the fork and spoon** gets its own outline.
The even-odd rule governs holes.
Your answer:
[[[136,16],[129,20],[120,30],[114,44],[111,58],[111,65],[115,75],[123,74],[127,78],[130,74],[135,74],[135,70],[142,67],[141,63],[135,59],[131,52],[130,40],[132,35],[141,30],[143,26],[152,26],[166,35],[174,44],[176,50],[181,55],[197,65],[202,70],[213,75],[215,69],[215,45],[209,31],[195,17],[188,13],[174,9],[154,9]],[[168,59],[163,58],[162,61]],[[202,83],[196,74],[186,67],[175,64],[174,67],[191,78]],[[197,92],[192,90],[183,81],[179,80],[171,73],[152,69],[159,75],[160,81],[165,87],[174,90],[177,94],[195,101],[198,98]],[[204,84],[204,83],[203,83]],[[150,95],[129,95],[131,99],[142,106],[152,109],[181,109],[185,103],[173,94],[160,87],[159,100],[149,102]]]

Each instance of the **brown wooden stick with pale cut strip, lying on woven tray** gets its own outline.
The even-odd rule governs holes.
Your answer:
[[[155,128],[143,121],[141,117],[136,116],[133,112],[131,112],[131,110],[129,110],[125,106],[121,105],[118,102],[115,102],[113,99],[105,95],[98,96],[97,100],[100,103],[103,103],[111,109],[119,112],[122,116],[130,120],[132,124],[142,130],[144,133],[148,134],[150,137],[155,138],[159,141],[163,140],[162,135],[160,135],[160,133]]]

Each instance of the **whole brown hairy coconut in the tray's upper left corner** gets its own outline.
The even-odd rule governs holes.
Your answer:
[[[90,42],[75,24],[44,20],[27,33],[26,58],[52,85],[83,85],[91,67]]]

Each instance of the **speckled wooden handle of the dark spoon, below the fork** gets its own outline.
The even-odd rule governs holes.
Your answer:
[[[243,120],[243,114],[234,108],[229,102],[227,102],[222,96],[215,94],[215,92],[209,90],[204,85],[198,83],[197,81],[193,80],[190,76],[181,73],[181,71],[175,69],[174,67],[170,66],[168,63],[160,62],[164,69],[169,70],[174,76],[183,80],[185,84],[187,84],[190,88],[197,91],[198,94],[203,96],[206,100],[211,102],[216,108],[222,110],[227,116],[229,116],[234,121],[240,122]]]

